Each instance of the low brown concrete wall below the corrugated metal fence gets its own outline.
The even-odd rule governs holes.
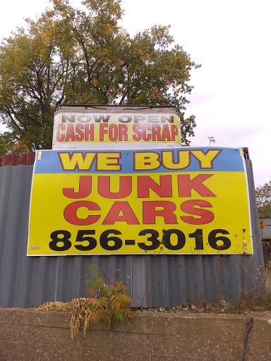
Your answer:
[[[110,330],[93,325],[85,338],[80,329],[71,341],[68,312],[2,307],[0,360],[270,361],[268,319],[271,311],[252,316],[135,312]]]

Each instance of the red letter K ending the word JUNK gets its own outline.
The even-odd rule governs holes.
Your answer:
[[[212,174],[199,174],[195,176],[195,178],[190,179],[190,174],[179,174],[179,197],[191,197],[192,189],[198,192],[201,197],[216,197],[216,195],[203,184],[203,182],[210,177],[212,177]]]

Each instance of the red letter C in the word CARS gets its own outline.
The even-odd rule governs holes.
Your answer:
[[[80,207],[88,208],[89,211],[100,211],[98,204],[90,202],[88,200],[78,200],[71,204],[68,204],[64,209],[64,218],[70,224],[76,224],[76,226],[88,226],[89,224],[94,224],[100,219],[98,215],[90,215],[85,219],[80,219],[77,216],[77,211]]]

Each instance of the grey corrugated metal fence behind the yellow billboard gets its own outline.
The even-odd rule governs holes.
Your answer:
[[[9,160],[8,160],[9,159]],[[2,158],[0,168],[0,305],[32,307],[85,296],[88,265],[124,280],[136,307],[230,300],[261,290],[264,266],[251,161],[254,255],[111,255],[26,257],[33,154]],[[25,161],[25,159],[27,159]],[[32,159],[32,160],[31,160]],[[21,164],[23,163],[23,164]],[[14,164],[8,165],[8,164]],[[19,165],[16,165],[19,164]]]

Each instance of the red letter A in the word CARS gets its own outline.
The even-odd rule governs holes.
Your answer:
[[[120,214],[122,213],[122,215]],[[109,210],[102,224],[115,224],[116,222],[126,222],[127,224],[139,224],[128,202],[116,201]]]

